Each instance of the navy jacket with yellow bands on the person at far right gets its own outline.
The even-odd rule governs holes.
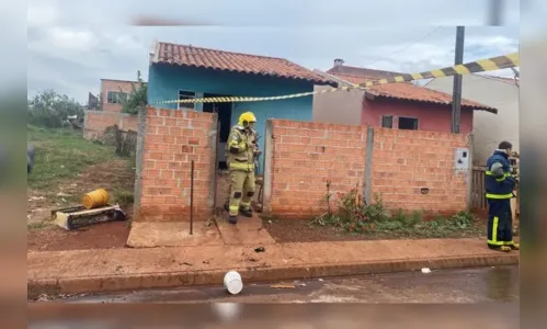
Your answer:
[[[509,155],[503,150],[495,150],[487,161],[485,190],[487,198],[506,200],[513,197],[515,179],[511,174]]]

